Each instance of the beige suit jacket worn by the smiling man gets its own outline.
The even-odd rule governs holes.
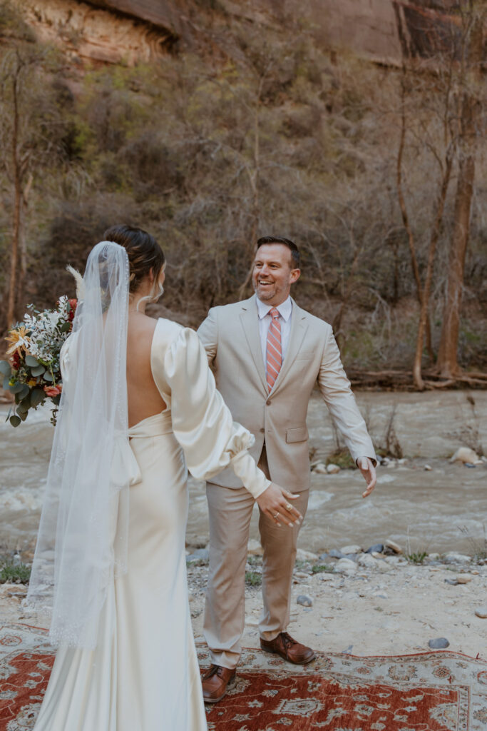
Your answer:
[[[353,459],[367,456],[375,460],[372,441],[327,322],[298,307],[293,300],[288,348],[270,393],[255,296],[210,309],[198,335],[234,420],[256,437],[250,449],[256,461],[265,441],[273,482],[293,492],[310,487],[306,414],[316,382]],[[242,487],[229,469],[212,477],[212,482],[229,488]]]

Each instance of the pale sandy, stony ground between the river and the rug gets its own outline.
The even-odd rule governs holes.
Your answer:
[[[487,605],[487,565],[448,565],[429,561],[415,565],[403,558],[377,561],[373,569],[358,567],[352,576],[323,572],[312,574],[314,565],[323,564],[301,552],[294,571],[289,632],[300,642],[318,651],[353,655],[402,655],[429,651],[429,640],[446,637],[449,650],[487,659],[487,618],[475,610]],[[248,565],[258,572],[257,565]],[[327,564],[336,565],[336,561]],[[379,566],[380,564],[380,566]],[[468,583],[453,585],[457,576],[467,574]],[[188,566],[191,616],[197,641],[202,641],[204,590],[207,565]],[[25,587],[0,586],[2,623],[45,622],[24,614],[21,599]],[[312,599],[312,606],[297,603],[299,595]],[[245,591],[245,633],[242,645],[258,647],[258,616],[261,590]]]

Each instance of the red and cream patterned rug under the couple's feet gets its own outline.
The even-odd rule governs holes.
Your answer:
[[[206,666],[206,649],[198,654]],[[0,731],[34,727],[52,665],[42,629],[0,627]],[[487,731],[487,662],[448,651],[318,653],[294,667],[247,649],[236,683],[207,707],[207,719],[209,731]]]

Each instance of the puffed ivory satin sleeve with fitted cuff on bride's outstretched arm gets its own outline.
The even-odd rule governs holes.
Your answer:
[[[172,428],[193,477],[210,480],[230,466],[254,498],[261,496],[272,483],[248,453],[253,434],[232,419],[193,330],[180,330],[167,349],[164,374],[171,388]]]

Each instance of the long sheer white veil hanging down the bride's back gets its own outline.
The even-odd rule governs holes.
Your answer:
[[[53,644],[94,648],[114,575],[126,572],[129,260],[101,241],[61,351],[64,378],[26,607],[51,613]],[[123,444],[121,445],[123,447]],[[116,535],[116,539],[115,539]]]

